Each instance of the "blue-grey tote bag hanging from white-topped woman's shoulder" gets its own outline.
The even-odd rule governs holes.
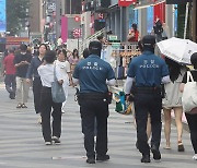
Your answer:
[[[51,97],[54,103],[63,103],[66,100],[65,91],[62,85],[58,83],[56,76],[56,64],[54,68],[54,82],[51,84]]]

